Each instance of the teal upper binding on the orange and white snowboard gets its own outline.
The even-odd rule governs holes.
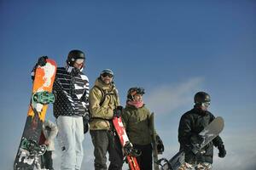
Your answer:
[[[50,103],[55,102],[55,95],[52,93],[49,93],[47,91],[37,92],[32,95],[32,100],[35,103],[40,103],[42,105],[48,105]]]

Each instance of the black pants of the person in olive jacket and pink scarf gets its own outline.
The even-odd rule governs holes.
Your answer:
[[[142,154],[137,156],[137,163],[141,170],[152,170],[152,145],[133,144],[134,148],[141,150]]]

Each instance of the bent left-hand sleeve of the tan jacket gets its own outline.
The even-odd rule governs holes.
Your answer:
[[[102,92],[97,88],[91,88],[89,94],[89,105],[91,117],[101,117],[104,119],[112,119],[113,108],[108,105],[100,105]]]

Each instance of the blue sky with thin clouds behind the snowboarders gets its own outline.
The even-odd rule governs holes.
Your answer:
[[[65,64],[67,53],[86,54],[93,86],[102,69],[114,71],[122,105],[132,86],[145,88],[166,145],[178,150],[180,116],[193,96],[212,96],[210,111],[225,120],[228,155],[214,169],[256,167],[256,2],[245,1],[7,1],[0,2],[0,164],[12,169],[31,95],[30,71],[41,55]],[[52,116],[52,106],[47,117]],[[55,151],[55,167],[60,151]],[[92,169],[93,146],[85,134],[83,170]]]

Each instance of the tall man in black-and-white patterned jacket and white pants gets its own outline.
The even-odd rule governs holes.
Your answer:
[[[44,66],[47,56],[40,57],[36,66]],[[67,55],[66,67],[58,67],[53,85],[53,105],[59,129],[57,140],[61,146],[61,169],[79,170],[84,150],[84,133],[88,129],[89,79],[84,75],[84,52],[73,49]]]

